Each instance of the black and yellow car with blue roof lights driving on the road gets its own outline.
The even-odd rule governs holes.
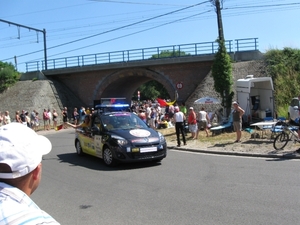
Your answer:
[[[167,156],[164,136],[131,112],[93,114],[90,127],[76,130],[75,147],[78,155],[99,157],[108,166]]]

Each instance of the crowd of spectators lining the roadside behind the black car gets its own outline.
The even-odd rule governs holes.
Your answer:
[[[148,100],[133,102],[130,108],[130,111],[137,114],[153,129],[174,127],[174,114],[177,110],[187,117],[187,121],[184,121],[184,123],[189,125],[192,138],[197,138],[198,124],[195,121],[198,122],[198,120],[202,118],[199,118],[193,110],[188,112],[184,103],[180,105],[174,103],[161,106],[157,101]],[[193,112],[192,117],[191,112]],[[71,122],[75,126],[80,125],[84,122],[86,115],[92,115],[93,113],[94,108],[83,106],[80,108],[75,107],[70,111],[68,111],[67,107],[64,107],[61,111],[45,108],[42,113],[39,113],[37,110],[33,110],[32,112],[22,110],[16,111],[14,116],[11,116],[9,111],[5,111],[3,113],[0,112],[0,126],[11,122],[19,122],[34,131],[56,129],[58,126],[62,126],[62,128],[66,129],[68,128],[68,122]],[[206,125],[204,125],[204,127],[206,127]]]

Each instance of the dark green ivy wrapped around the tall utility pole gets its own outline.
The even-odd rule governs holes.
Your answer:
[[[212,65],[212,76],[214,78],[214,89],[222,97],[222,106],[225,107],[228,115],[234,95],[231,58],[226,51],[224,41],[217,41],[219,50]]]

